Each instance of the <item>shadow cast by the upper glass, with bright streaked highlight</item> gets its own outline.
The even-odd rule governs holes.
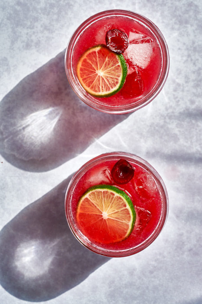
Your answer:
[[[64,56],[22,79],[0,103],[0,152],[23,170],[58,167],[129,115],[101,113],[81,102],[68,83]]]

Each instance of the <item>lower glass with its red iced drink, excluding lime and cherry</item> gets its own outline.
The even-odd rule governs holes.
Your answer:
[[[116,184],[111,176],[111,169],[120,159],[134,168],[134,177],[124,185]],[[136,211],[136,222],[129,237],[113,244],[92,240],[77,223],[79,199],[89,187],[101,184],[122,189],[130,196]],[[72,233],[82,245],[101,255],[124,257],[145,249],[157,238],[167,219],[168,195],[162,178],[147,161],[125,152],[106,153],[88,161],[71,179],[65,197],[65,213]]]

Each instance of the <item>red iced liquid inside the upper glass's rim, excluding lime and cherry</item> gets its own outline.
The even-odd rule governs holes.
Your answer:
[[[79,36],[73,52],[72,66],[76,75],[81,55],[91,47],[105,43],[106,33],[119,29],[127,34],[129,45],[122,54],[127,64],[127,77],[121,90],[113,96],[93,97],[98,103],[117,106],[141,102],[161,73],[162,57],[157,39],[141,22],[123,16],[108,16],[88,26]]]

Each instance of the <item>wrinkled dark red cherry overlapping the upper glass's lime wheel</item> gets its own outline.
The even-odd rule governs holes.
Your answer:
[[[107,47],[117,54],[123,53],[129,43],[126,33],[120,31],[120,29],[109,30],[106,33],[105,41]]]

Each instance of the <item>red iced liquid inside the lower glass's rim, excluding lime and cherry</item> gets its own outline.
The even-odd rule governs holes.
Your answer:
[[[133,178],[124,185],[117,184],[111,176],[111,170],[119,159],[104,160],[95,164],[81,175],[70,194],[71,216],[77,229],[81,229],[81,232],[82,227],[79,227],[77,223],[76,211],[79,199],[89,187],[100,184],[113,185],[123,190],[131,198],[136,212],[136,222],[129,237],[113,244],[100,244],[95,241],[96,232],[93,235],[91,231],[91,237],[86,232],[85,237],[104,250],[129,250],[140,245],[151,237],[162,222],[163,216],[163,189],[154,174],[144,165],[136,161],[129,161],[134,168]]]

